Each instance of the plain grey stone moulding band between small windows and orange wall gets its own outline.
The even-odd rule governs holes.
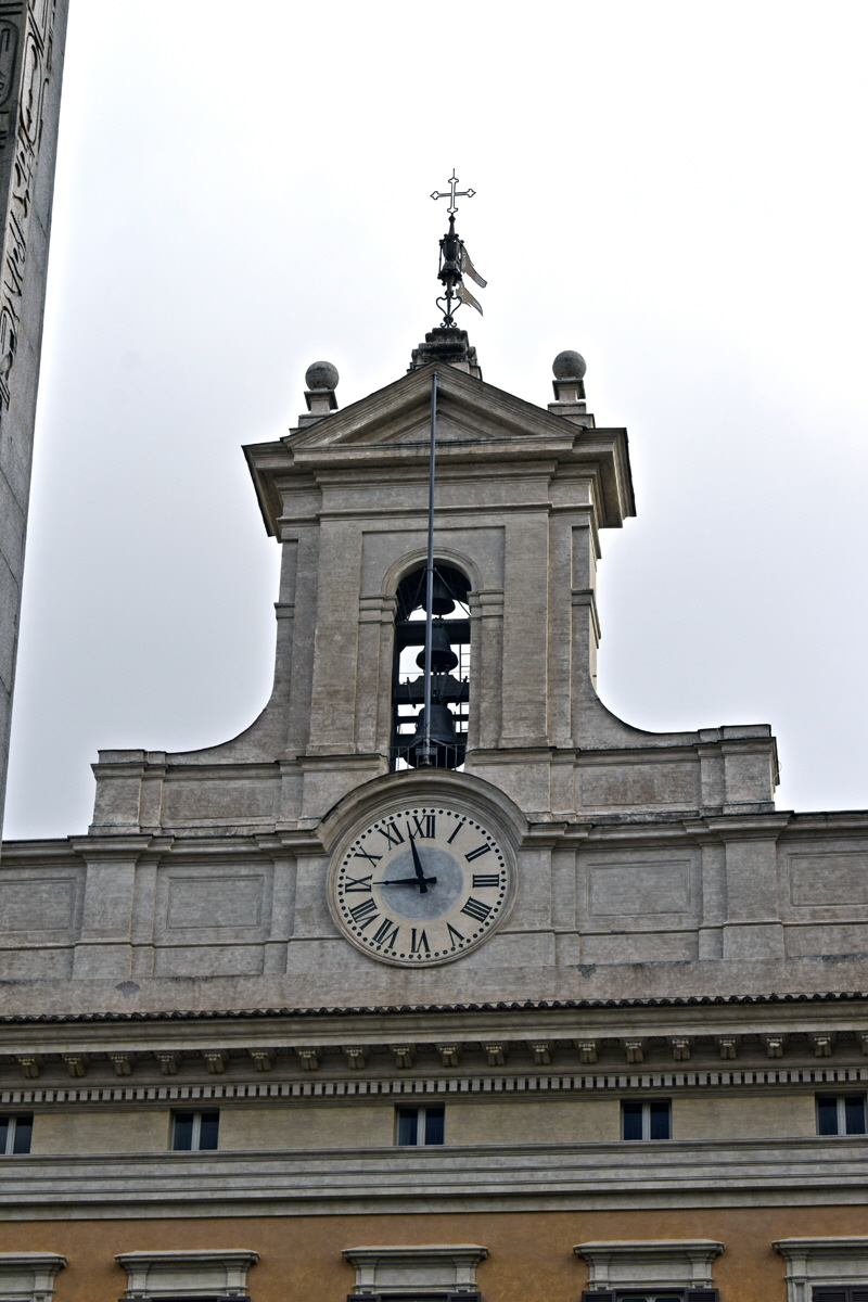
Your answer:
[[[868,1141],[289,1148],[18,1156],[4,1220],[864,1206]]]

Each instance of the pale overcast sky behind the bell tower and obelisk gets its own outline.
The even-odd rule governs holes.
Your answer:
[[[770,723],[782,809],[868,806],[868,8],[72,0],[7,836],[81,832],[98,747],[198,747],[271,681],[241,445],[403,374],[453,167],[491,383],[587,358],[638,518],[600,691]],[[440,208],[440,211],[439,211]]]

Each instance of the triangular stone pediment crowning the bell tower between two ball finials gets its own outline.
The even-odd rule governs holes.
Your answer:
[[[441,362],[388,384],[284,439],[294,450],[414,444],[428,440],[431,375],[437,372],[439,444],[575,436],[575,426],[532,402]]]

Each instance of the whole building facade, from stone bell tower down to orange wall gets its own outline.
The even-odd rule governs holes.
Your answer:
[[[390,771],[432,370],[467,753]],[[657,734],[605,708],[596,561],[634,500],[626,431],[583,385],[545,410],[416,357],[344,411],[307,398],[246,449],[284,559],[260,717],[210,750],[102,753],[86,836],[4,849],[0,1103],[33,1141],[0,1156],[0,1238],[65,1254],[62,1290],[74,1220],[102,1302],[125,1269],[128,1297],[508,1302],[545,1279],[558,1302],[808,1302],[835,1233],[850,1288],[868,811],[776,810],[766,725]],[[353,854],[371,881],[364,837],[407,805],[484,825],[514,874],[504,921],[436,965],[347,943],[329,896]],[[652,1105],[665,1137],[631,1139]],[[217,1113],[216,1150],[173,1146],[178,1116]],[[401,1139],[407,1113],[440,1138]]]

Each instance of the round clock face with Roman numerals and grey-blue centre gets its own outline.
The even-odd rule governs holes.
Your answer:
[[[513,868],[478,818],[437,805],[394,805],[332,865],[334,919],[358,949],[419,967],[480,945],[511,902]]]

